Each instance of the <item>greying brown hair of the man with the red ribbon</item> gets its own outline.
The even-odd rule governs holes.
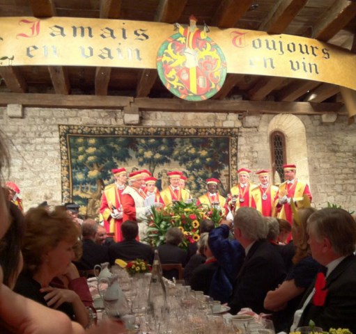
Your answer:
[[[327,238],[339,256],[355,252],[356,222],[344,209],[327,207],[320,209],[308,219],[307,230],[316,239]]]

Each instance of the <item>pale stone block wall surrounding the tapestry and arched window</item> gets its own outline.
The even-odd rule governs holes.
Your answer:
[[[277,116],[242,118],[232,113],[141,112],[141,125],[238,127],[238,166],[257,170],[271,167],[268,138],[274,117]],[[356,125],[349,126],[347,118],[341,116],[332,123],[323,123],[321,116],[298,118],[304,125],[307,141],[304,151],[309,170],[305,179],[311,185],[316,207],[329,201],[356,209]],[[8,138],[12,157],[10,175],[5,178],[20,187],[25,209],[43,200],[52,205],[61,203],[60,124],[123,126],[123,112],[24,108],[19,118],[18,113],[0,108],[0,126]],[[293,159],[293,152],[287,155]],[[256,177],[252,179],[257,181]]]

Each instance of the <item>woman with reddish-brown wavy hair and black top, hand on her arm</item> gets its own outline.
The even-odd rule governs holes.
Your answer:
[[[15,292],[61,310],[86,326],[88,311],[78,294],[50,284],[56,276],[65,274],[74,260],[73,246],[79,237],[75,223],[63,210],[47,212],[37,207],[27,212],[25,226],[24,270],[17,279]]]

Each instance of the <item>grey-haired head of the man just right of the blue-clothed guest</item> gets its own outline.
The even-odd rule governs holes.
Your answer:
[[[242,237],[255,241],[265,239],[268,226],[263,216],[252,207],[240,207],[233,218],[234,228],[240,228]]]

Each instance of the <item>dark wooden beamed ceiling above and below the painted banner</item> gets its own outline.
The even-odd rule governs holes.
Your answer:
[[[316,38],[356,53],[355,0],[0,0],[0,22],[59,16],[187,24],[192,14],[209,26]],[[156,70],[8,66],[0,67],[0,78],[0,105],[110,108],[131,97],[146,110],[344,113],[338,86],[302,79],[228,74],[219,93],[197,106],[173,97]]]

